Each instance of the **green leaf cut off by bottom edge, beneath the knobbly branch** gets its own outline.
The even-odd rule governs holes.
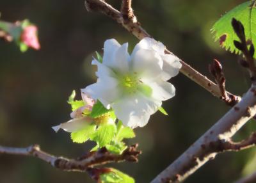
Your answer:
[[[100,175],[101,183],[134,183],[134,179],[122,171],[111,168],[111,172]]]

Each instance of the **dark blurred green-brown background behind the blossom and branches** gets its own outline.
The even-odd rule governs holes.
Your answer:
[[[108,1],[116,8],[120,1]],[[148,0],[134,1],[138,19],[150,35],[179,58],[206,76],[213,58],[223,63],[228,91],[237,95],[250,86],[238,57],[220,49],[210,33],[221,14],[244,1],[237,0]],[[42,49],[22,54],[14,44],[0,42],[0,145],[26,147],[38,143],[55,155],[77,157],[92,148],[91,143],[74,144],[67,132],[51,126],[67,121],[67,98],[95,82],[91,67],[95,51],[102,52],[104,40],[138,40],[116,22],[99,13],[88,13],[84,1],[8,0],[0,1],[1,19],[14,22],[28,18],[38,25]],[[111,164],[132,175],[137,182],[149,182],[198,139],[229,109],[187,77],[171,81],[177,95],[164,102],[169,116],[156,113],[137,137],[143,154],[137,164]],[[236,135],[242,139],[256,129],[249,122]],[[218,155],[191,175],[186,182],[232,182],[256,170],[255,149]],[[254,160],[253,160],[254,159]],[[32,157],[0,155],[0,182],[93,182],[86,173],[56,170]]]

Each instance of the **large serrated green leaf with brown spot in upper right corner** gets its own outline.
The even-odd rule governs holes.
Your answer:
[[[232,18],[242,22],[244,26],[246,39],[252,40],[256,45],[256,3],[247,1],[221,17],[212,27],[212,32],[215,33],[215,40],[220,40],[221,47],[230,52],[241,53],[235,46],[234,40],[239,40],[234,32],[231,21]]]

